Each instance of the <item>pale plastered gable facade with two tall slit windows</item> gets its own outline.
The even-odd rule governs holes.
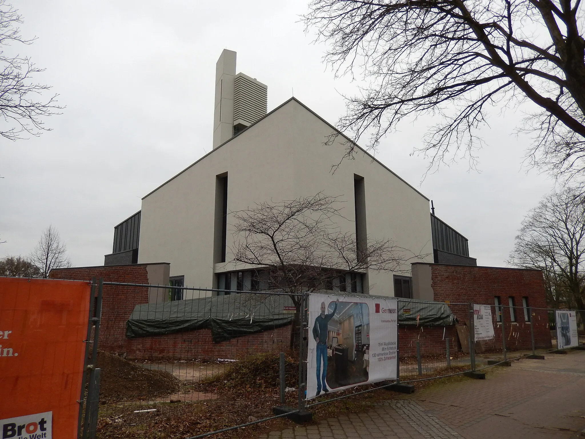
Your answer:
[[[355,218],[355,175],[364,179],[367,235],[392,239],[433,262],[429,200],[362,149],[343,159],[347,139],[291,98],[142,200],[139,263],[170,262],[171,276],[185,276],[185,285],[216,286],[216,273],[242,270],[230,262],[233,236],[229,212],[252,208],[263,201],[314,196],[339,196],[343,215]],[[332,166],[339,164],[335,172]],[[214,263],[216,181],[228,176],[227,262]],[[339,224],[355,232],[355,222]],[[407,264],[409,265],[409,264]],[[369,293],[394,295],[393,274],[367,273]],[[409,273],[395,273],[407,275]],[[184,299],[190,299],[186,294]]]

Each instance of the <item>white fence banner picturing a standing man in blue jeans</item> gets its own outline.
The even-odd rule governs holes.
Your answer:
[[[397,301],[309,296],[307,399],[396,379]]]

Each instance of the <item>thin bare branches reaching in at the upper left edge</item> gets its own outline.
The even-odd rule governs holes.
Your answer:
[[[17,27],[22,16],[5,0],[0,0],[0,46],[13,43],[32,44],[35,38],[25,39]],[[8,140],[21,139],[26,135],[39,135],[49,129],[42,119],[57,114],[61,109],[56,103],[57,95],[41,100],[48,85],[35,83],[32,77],[42,72],[30,61],[29,57],[7,54],[0,50],[0,114],[4,123],[0,126],[0,136]]]

